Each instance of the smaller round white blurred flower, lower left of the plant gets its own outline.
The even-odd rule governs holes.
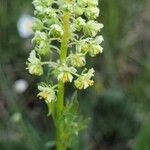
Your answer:
[[[16,80],[13,88],[16,93],[23,93],[28,88],[28,82],[24,79]]]

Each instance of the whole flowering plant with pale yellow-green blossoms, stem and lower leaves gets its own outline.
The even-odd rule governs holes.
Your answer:
[[[86,56],[94,57],[103,50],[103,37],[98,36],[103,24],[95,21],[98,0],[34,0],[33,5],[35,48],[27,69],[37,76],[48,70],[51,81],[38,85],[38,97],[53,117],[56,149],[66,150],[85,124],[77,114],[76,97],[65,101],[65,84],[72,82],[79,90],[92,86],[94,69],[86,68]]]

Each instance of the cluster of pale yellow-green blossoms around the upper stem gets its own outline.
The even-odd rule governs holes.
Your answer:
[[[39,85],[38,96],[47,103],[56,101],[59,81],[73,82],[80,90],[92,86],[94,69],[85,69],[86,56],[94,57],[103,51],[103,37],[98,35],[103,24],[95,21],[99,16],[98,0],[34,0],[33,5],[35,48],[27,69],[41,76],[47,65],[56,81],[53,85]]]

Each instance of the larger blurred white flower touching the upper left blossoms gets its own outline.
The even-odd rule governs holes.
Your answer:
[[[19,35],[22,38],[28,38],[33,34],[32,31],[33,23],[34,23],[34,18],[32,16],[27,14],[23,14],[20,16],[17,22],[17,27],[18,27]]]

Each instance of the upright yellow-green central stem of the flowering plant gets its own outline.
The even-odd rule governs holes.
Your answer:
[[[61,42],[61,48],[60,48],[60,60],[61,63],[63,63],[66,60],[67,57],[67,50],[68,50],[68,41],[70,38],[70,26],[69,26],[69,19],[70,14],[64,13],[62,21],[63,21],[63,36],[62,36],[62,42]],[[65,143],[62,139],[62,132],[63,129],[61,128],[61,125],[59,123],[60,116],[63,111],[64,107],[64,87],[65,84],[62,81],[58,82],[58,93],[57,93],[57,104],[56,104],[56,149],[57,150],[66,150],[66,147],[64,146]]]

